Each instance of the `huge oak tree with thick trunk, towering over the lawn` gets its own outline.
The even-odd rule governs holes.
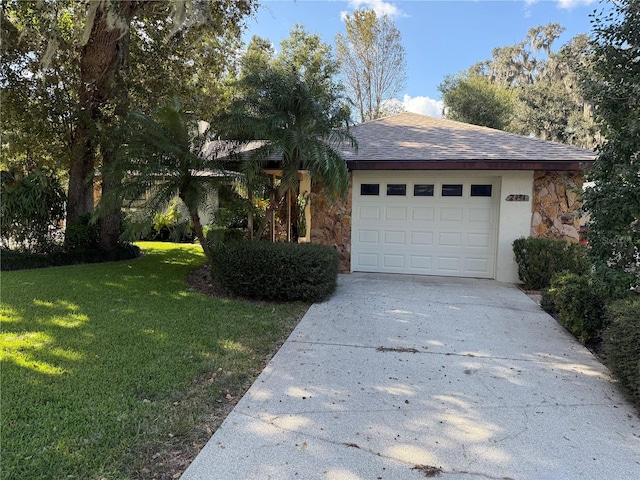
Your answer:
[[[2,105],[3,114],[10,112],[9,138],[37,139],[38,154],[62,157],[68,222],[93,211],[97,168],[113,161],[116,127],[132,104],[148,111],[169,93],[214,104],[216,84],[207,79],[224,69],[226,46],[255,6],[254,0],[3,2],[8,61],[0,83],[11,99]],[[34,156],[19,145],[13,150]],[[103,193],[118,182],[103,177]],[[117,207],[102,217],[104,248],[117,244],[118,223]]]

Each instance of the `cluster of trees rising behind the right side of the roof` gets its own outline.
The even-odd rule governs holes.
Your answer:
[[[445,116],[592,148],[597,129],[578,82],[588,37],[554,51],[563,31],[557,23],[531,28],[521,42],[494,48],[491,59],[445,78]]]

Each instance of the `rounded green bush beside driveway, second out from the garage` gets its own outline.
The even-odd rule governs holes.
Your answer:
[[[542,307],[557,313],[558,322],[582,342],[598,338],[606,325],[606,297],[595,275],[562,272],[543,291]]]

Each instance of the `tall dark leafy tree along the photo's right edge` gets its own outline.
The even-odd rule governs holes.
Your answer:
[[[640,283],[640,2],[621,0],[594,17],[592,68],[583,86],[605,141],[584,193],[589,251],[622,282]],[[626,280],[625,280],[626,278]]]

